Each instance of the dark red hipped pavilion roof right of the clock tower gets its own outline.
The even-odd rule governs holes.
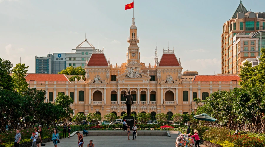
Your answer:
[[[159,66],[179,66],[178,59],[175,54],[163,54]]]

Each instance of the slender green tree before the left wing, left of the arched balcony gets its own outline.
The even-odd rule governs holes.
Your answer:
[[[71,117],[71,114],[73,114],[73,109],[71,108],[71,104],[74,103],[74,100],[70,98],[69,96],[58,93],[55,105],[59,105],[64,109],[64,114],[62,114],[61,120],[66,123],[69,117]]]

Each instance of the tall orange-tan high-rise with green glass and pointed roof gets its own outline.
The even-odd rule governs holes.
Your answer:
[[[240,4],[221,34],[222,74],[240,74],[242,62],[260,56],[265,47],[265,13],[248,11]]]

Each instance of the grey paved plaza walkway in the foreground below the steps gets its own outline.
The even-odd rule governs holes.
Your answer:
[[[140,131],[138,131],[140,132]],[[124,132],[126,133],[126,132]],[[177,131],[169,131],[170,136],[136,136],[136,140],[132,140],[132,133],[130,133],[130,140],[127,140],[127,136],[84,136],[84,145],[87,147],[89,140],[92,139],[95,147],[110,147],[110,146],[125,146],[125,147],[136,147],[136,146],[148,146],[148,147],[175,147],[176,138],[178,136]],[[54,147],[53,142],[45,143],[47,147]],[[60,139],[58,147],[77,147],[78,139],[77,135],[70,138]],[[201,146],[200,147],[205,147]]]

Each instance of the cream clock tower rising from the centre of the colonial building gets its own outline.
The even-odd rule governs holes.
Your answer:
[[[127,65],[139,65],[140,64],[140,52],[137,43],[139,37],[137,36],[137,27],[135,26],[134,18],[132,18],[132,25],[130,26],[130,36],[127,39],[130,43],[127,52]]]

